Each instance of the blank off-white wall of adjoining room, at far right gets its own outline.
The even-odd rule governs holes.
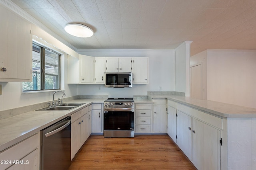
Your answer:
[[[207,99],[256,108],[256,51],[208,50]]]

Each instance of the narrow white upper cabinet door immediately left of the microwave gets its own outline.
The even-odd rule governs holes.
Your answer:
[[[104,84],[104,57],[94,59],[94,83]]]

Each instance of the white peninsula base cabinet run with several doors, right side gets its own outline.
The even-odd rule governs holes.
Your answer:
[[[224,152],[221,155],[223,121],[168,100],[168,135],[198,170],[222,169],[222,156],[225,156]]]

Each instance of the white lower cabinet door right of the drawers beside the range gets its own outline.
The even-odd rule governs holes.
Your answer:
[[[153,106],[153,131],[154,132],[167,132],[167,111],[166,105]]]

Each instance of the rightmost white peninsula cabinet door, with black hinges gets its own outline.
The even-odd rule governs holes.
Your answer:
[[[193,118],[192,162],[198,170],[220,170],[220,130]]]

